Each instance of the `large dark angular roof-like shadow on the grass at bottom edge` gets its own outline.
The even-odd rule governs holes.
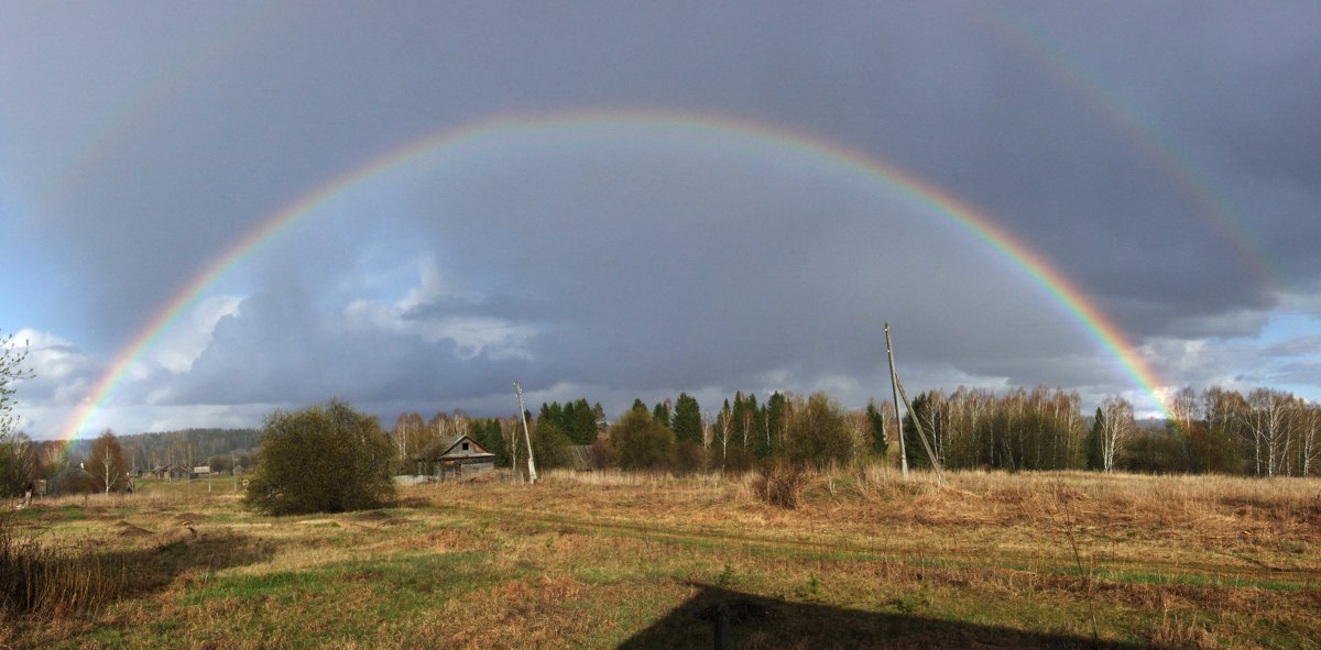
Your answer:
[[[993,625],[943,621],[901,613],[861,612],[830,605],[732,592],[695,583],[696,596],[626,639],[621,650],[660,647],[1100,647],[1145,645],[1100,642],[1091,637],[1046,634]],[[724,634],[717,632],[725,620]],[[717,643],[721,634],[723,643]]]

